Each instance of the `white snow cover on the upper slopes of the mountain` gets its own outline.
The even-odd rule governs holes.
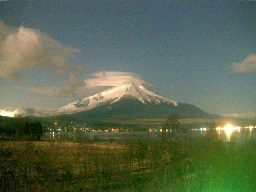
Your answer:
[[[112,104],[124,97],[131,97],[137,99],[143,104],[160,104],[162,102],[165,102],[169,104],[172,103],[174,104],[174,106],[178,105],[178,102],[160,96],[159,94],[156,94],[146,89],[142,85],[125,84],[109,88],[90,97],[81,98],[80,100],[70,103],[58,110],[52,112],[44,112],[40,114],[40,116],[57,116],[62,114],[72,114],[76,112],[90,110],[103,104]]]

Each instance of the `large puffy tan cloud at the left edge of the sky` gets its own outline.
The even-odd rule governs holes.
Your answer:
[[[38,30],[15,29],[0,20],[0,77],[15,79],[26,68],[52,66],[56,73],[66,71],[68,57],[80,52],[63,46]]]

